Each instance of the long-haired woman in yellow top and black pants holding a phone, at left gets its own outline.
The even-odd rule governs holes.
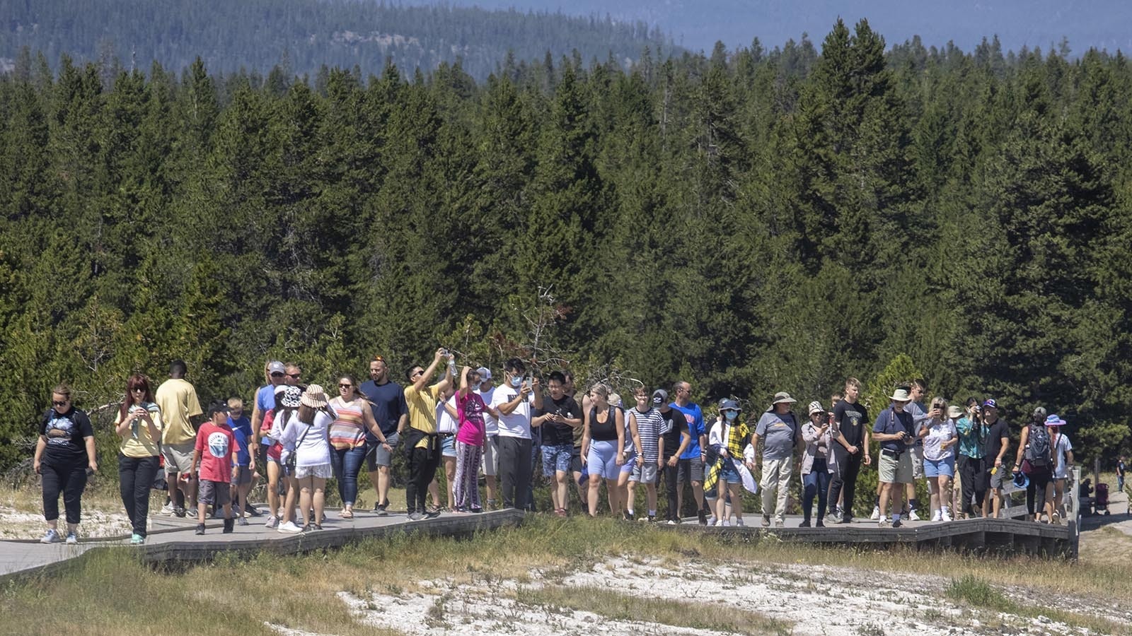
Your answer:
[[[131,544],[145,543],[149,517],[149,489],[160,467],[161,409],[153,402],[149,378],[134,373],[126,381],[126,398],[118,409],[114,432],[118,447],[118,481],[126,515],[134,526]]]

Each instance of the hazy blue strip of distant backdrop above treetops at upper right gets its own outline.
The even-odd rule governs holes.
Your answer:
[[[451,0],[458,6],[563,10],[645,20],[672,35],[678,45],[711,51],[758,37],[769,48],[803,33],[821,41],[840,16],[849,24],[868,18],[889,45],[919,35],[926,46],[954,42],[972,50],[998,36],[1004,49],[1047,50],[1067,38],[1074,52],[1089,48],[1132,50],[1132,2],[1127,0]]]

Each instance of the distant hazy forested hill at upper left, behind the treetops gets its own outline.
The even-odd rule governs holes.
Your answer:
[[[59,55],[156,60],[180,69],[200,57],[211,72],[284,70],[311,77],[323,65],[380,74],[394,62],[412,74],[461,61],[486,79],[513,52],[541,60],[575,49],[583,59],[627,63],[669,40],[641,22],[445,5],[371,0],[0,0],[0,69],[28,46]]]

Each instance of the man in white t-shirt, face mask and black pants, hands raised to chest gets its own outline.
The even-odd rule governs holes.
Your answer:
[[[504,508],[528,507],[531,482],[531,411],[542,407],[538,378],[523,380],[526,366],[517,358],[504,364],[504,384],[496,388],[488,411],[498,420],[499,482]]]

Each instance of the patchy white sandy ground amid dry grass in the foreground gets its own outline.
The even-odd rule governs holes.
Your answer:
[[[829,636],[947,634],[1088,635],[1089,630],[1009,613],[972,612],[949,601],[940,577],[892,575],[821,566],[758,565],[709,567],[689,560],[672,571],[660,560],[611,558],[588,571],[531,573],[530,583],[477,581],[454,585],[447,579],[422,581],[422,592],[372,592],[359,598],[340,592],[338,599],[366,626],[404,634],[514,633],[524,636],[557,634],[674,634],[704,631],[648,620],[610,620],[591,612],[524,601],[524,590],[543,585],[609,587],[652,599],[695,599],[705,612],[741,608],[794,624],[794,634]],[[1019,591],[1021,593],[1021,591]],[[517,599],[517,600],[516,600]],[[1097,612],[1114,620],[1132,620],[1132,612],[1116,610],[1103,600],[1073,600],[1058,607]],[[288,636],[308,633],[268,625]],[[323,635],[317,635],[323,636]]]

